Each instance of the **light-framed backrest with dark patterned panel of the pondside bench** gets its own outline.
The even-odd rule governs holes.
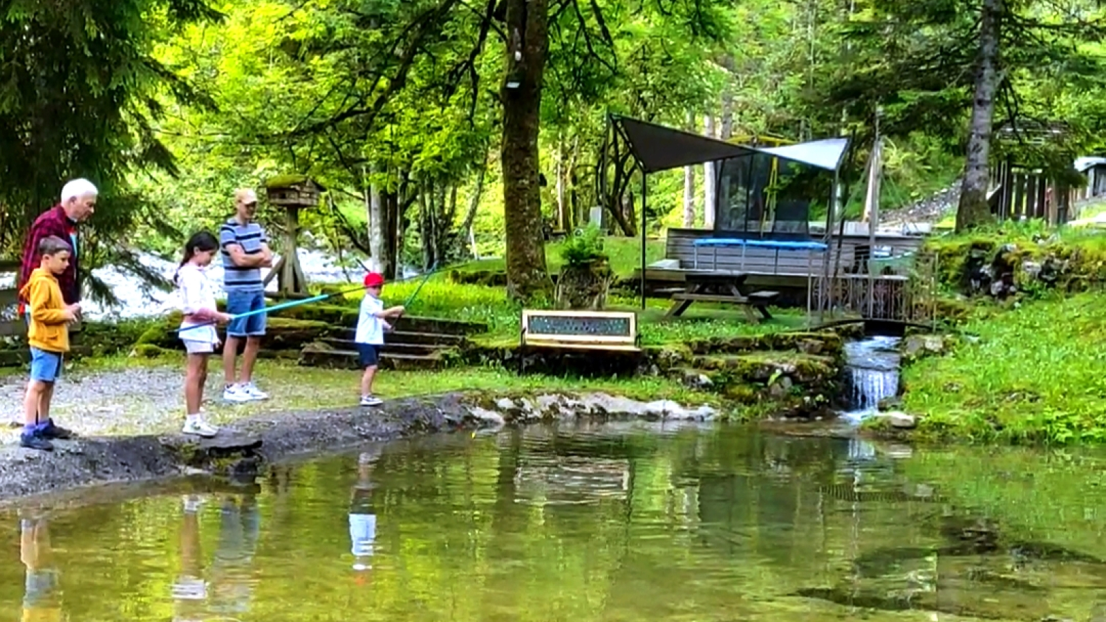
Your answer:
[[[522,342],[637,343],[633,311],[522,311]]]

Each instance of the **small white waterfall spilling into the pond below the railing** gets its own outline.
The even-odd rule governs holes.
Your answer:
[[[896,336],[873,336],[845,344],[849,391],[845,416],[863,419],[876,411],[880,400],[898,394],[898,342]]]

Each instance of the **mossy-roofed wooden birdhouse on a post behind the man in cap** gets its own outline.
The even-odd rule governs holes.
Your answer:
[[[279,175],[265,182],[265,198],[270,205],[284,208],[284,237],[280,261],[265,277],[265,284],[276,278],[276,291],[281,298],[304,298],[307,279],[300,267],[296,239],[300,236],[300,210],[319,207],[319,196],[326,188],[306,175]]]

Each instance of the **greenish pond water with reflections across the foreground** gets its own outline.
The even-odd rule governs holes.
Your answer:
[[[0,622],[1098,622],[1102,466],[697,425],[436,436],[0,512]]]

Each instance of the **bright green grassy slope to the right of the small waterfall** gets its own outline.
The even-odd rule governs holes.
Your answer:
[[[1005,443],[1106,440],[1106,297],[1084,293],[980,313],[954,352],[910,365],[919,432]]]

